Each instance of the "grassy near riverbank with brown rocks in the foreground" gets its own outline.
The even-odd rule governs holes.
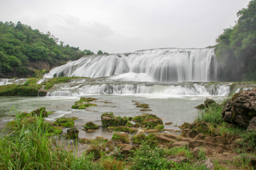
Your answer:
[[[112,166],[116,166],[115,169],[206,169],[205,165],[200,166],[198,165],[200,163],[197,164],[197,162],[209,158],[215,169],[239,169],[240,164],[242,164],[242,169],[252,169],[252,163],[247,159],[249,155],[246,146],[248,141],[244,141],[250,139],[250,136],[243,136],[243,134],[247,134],[245,130],[223,122],[221,111],[222,106],[218,105],[198,113],[196,121],[201,125],[198,123],[185,124],[187,127],[183,129],[181,136],[169,132],[162,133],[160,128],[151,127],[151,123],[145,124],[142,122],[140,130],[144,130],[144,132],[154,130],[154,132],[146,132],[143,135],[137,132],[133,136],[129,133],[119,133],[122,130],[121,128],[107,128],[106,130],[114,131],[112,140],[106,140],[104,137],[96,137],[94,140],[72,140],[73,142],[64,140],[71,142],[71,145],[72,143],[75,146],[83,145],[87,149],[87,152],[82,152],[79,157],[75,156],[75,153],[79,153],[75,149],[73,152],[67,152],[68,148],[65,148],[67,145],[58,143],[58,137],[61,140],[63,139],[62,135],[53,137],[49,135],[47,128],[42,128],[43,118],[36,117],[34,122],[36,126],[26,133],[24,129],[26,127],[23,128],[21,124],[18,125],[18,122],[21,123],[21,121],[17,120],[22,118],[17,114],[16,125],[18,129],[15,131],[17,135],[10,136],[6,134],[1,138],[1,145],[6,146],[3,147],[3,152],[13,153],[3,160],[6,162],[4,163],[5,166],[12,166],[8,162],[14,162],[12,163],[13,167],[19,165],[25,167],[25,169],[29,167],[43,169],[42,164],[44,164],[44,169],[50,166],[55,167],[55,169],[79,169],[79,167],[114,169]],[[118,117],[117,120],[119,120]],[[142,125],[150,125],[150,127],[143,129]],[[181,129],[183,126],[181,126]],[[123,128],[123,130],[127,130],[127,128]],[[36,135],[38,133],[41,136]],[[189,136],[190,134],[193,134],[193,136]],[[33,138],[31,138],[31,135],[33,135]],[[118,137],[120,135],[127,136],[128,140],[120,140],[121,137]],[[20,140],[23,142],[20,142]],[[38,141],[42,141],[41,145],[47,147],[38,145]],[[9,145],[14,146],[17,143],[18,147],[8,148]],[[234,148],[228,147],[230,145],[233,145]],[[35,147],[31,148],[31,146]],[[47,149],[48,147],[50,149]],[[20,148],[23,148],[23,150]],[[251,154],[253,153],[252,148],[250,150]],[[31,153],[29,155],[25,153],[25,151],[28,152],[28,149]],[[17,151],[19,154],[16,157],[14,153]],[[240,154],[240,152],[245,154]],[[32,157],[33,155],[36,159]],[[46,156],[43,157],[43,155]],[[21,159],[21,157],[26,158],[22,159],[26,162],[20,161],[17,163],[18,158]],[[58,163],[56,163],[57,161]]]

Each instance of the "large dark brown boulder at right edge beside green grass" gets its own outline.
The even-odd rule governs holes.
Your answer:
[[[225,103],[222,114],[225,122],[246,129],[250,120],[256,117],[256,89],[234,94],[232,100]]]

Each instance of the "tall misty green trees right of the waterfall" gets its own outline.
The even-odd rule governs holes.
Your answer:
[[[221,34],[215,45],[223,81],[256,80],[256,0],[238,11],[238,22]]]

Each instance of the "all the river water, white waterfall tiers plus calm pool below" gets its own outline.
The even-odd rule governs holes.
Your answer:
[[[0,97],[0,128],[13,120],[11,115],[15,113],[11,108],[15,106],[17,111],[26,112],[46,107],[53,111],[46,118],[49,122],[61,116],[77,117],[75,127],[80,130],[80,138],[112,137],[102,128],[95,132],[82,130],[88,121],[101,125],[100,115],[105,112],[121,117],[152,113],[164,123],[173,123],[166,125],[166,129],[178,130],[184,122],[195,120],[198,110],[194,107],[206,98],[221,103],[230,93],[231,83],[213,82],[218,79],[217,71],[213,49],[169,48],[82,57],[52,69],[37,83],[60,76],[90,78],[55,84],[43,97]],[[1,79],[0,86],[25,82],[26,79]],[[92,102],[97,106],[72,109],[83,96],[98,98]],[[140,111],[132,101],[147,103],[152,111]]]

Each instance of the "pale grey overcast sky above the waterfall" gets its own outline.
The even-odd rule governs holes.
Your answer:
[[[0,0],[0,21],[50,31],[81,50],[109,53],[207,47],[249,0]]]

